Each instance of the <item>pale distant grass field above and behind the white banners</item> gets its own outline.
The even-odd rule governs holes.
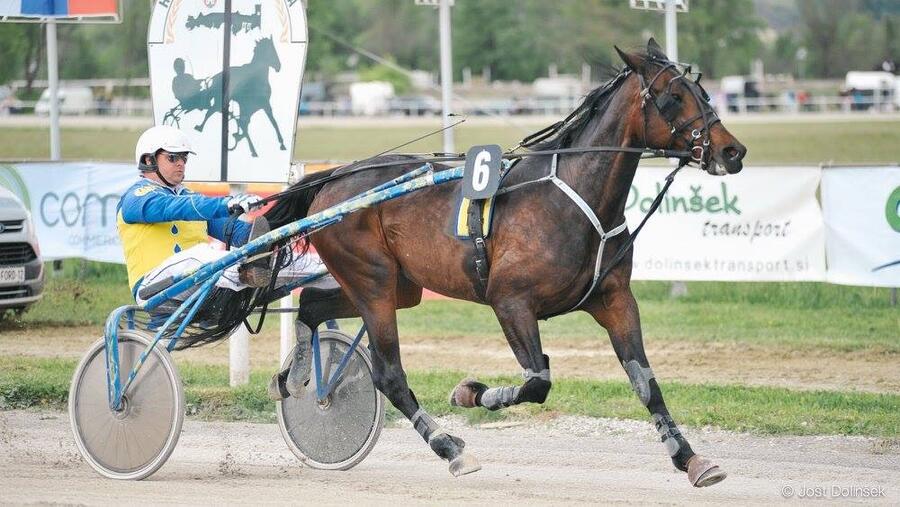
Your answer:
[[[515,119],[516,122],[523,120]],[[474,122],[473,122],[474,123]],[[728,121],[726,120],[726,124]],[[439,122],[435,120],[434,127]],[[541,125],[457,127],[456,146],[464,151],[475,144],[512,147]],[[900,120],[848,122],[791,122],[775,124],[736,123],[731,132],[748,148],[745,163],[843,164],[896,163],[900,145]],[[433,130],[432,127],[394,126],[303,126],[297,134],[294,158],[298,160],[361,159],[404,143]],[[62,129],[62,154],[66,160],[131,160],[140,130]],[[103,143],[96,140],[102,138]],[[403,148],[408,152],[441,150],[441,137],[431,136]],[[0,128],[0,159],[48,159],[46,128]]]

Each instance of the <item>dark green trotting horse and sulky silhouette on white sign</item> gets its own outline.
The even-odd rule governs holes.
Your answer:
[[[266,37],[256,41],[253,48],[253,57],[249,63],[230,67],[229,87],[230,100],[232,102],[231,110],[228,115],[229,132],[231,132],[232,142],[228,145],[228,150],[233,151],[237,148],[241,140],[246,139],[250,148],[250,154],[257,157],[256,147],[250,137],[250,120],[257,111],[264,111],[275,129],[278,137],[279,149],[286,150],[284,138],[281,135],[281,129],[278,128],[278,122],[272,114],[272,86],[269,84],[269,69],[275,69],[275,72],[281,70],[281,60],[278,58],[278,52],[275,50],[275,43],[272,37]],[[203,121],[194,129],[202,132],[206,126],[206,122],[213,114],[222,111],[222,73],[213,75],[206,79],[196,79],[190,74],[184,72],[184,60],[178,58],[175,60],[175,77],[172,79],[172,92],[178,104],[170,109],[163,123],[178,125],[184,113],[191,111],[206,111]],[[236,106],[236,107],[235,107]]]

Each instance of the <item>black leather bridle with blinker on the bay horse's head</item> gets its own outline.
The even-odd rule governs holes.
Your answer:
[[[698,73],[696,79],[691,81],[688,79],[688,76],[691,75],[690,65],[676,64],[668,60],[659,60],[652,57],[646,61],[659,65],[660,69],[649,82],[644,80],[644,76],[640,72],[635,72],[640,84],[641,114],[644,117],[644,146],[647,146],[647,128],[649,126],[647,104],[650,103],[656,107],[657,112],[669,127],[667,148],[672,149],[679,140],[682,141],[684,146],[690,150],[690,162],[694,162],[700,169],[706,170],[709,165],[709,156],[711,155],[709,153],[710,132],[713,125],[721,120],[709,104],[709,95],[706,93],[706,90],[700,85],[702,74]],[[656,83],[656,80],[670,69],[677,73],[679,67],[683,69],[682,72],[666,83],[662,93],[654,94],[653,85]],[[683,80],[686,83],[685,88],[694,97],[697,107],[700,109],[699,113],[681,122],[678,122],[678,116],[683,108],[682,101],[672,93],[673,83],[679,80]],[[696,86],[691,86],[691,84]],[[697,120],[703,120],[702,128],[693,128]],[[688,129],[690,129],[690,132],[688,132]]]

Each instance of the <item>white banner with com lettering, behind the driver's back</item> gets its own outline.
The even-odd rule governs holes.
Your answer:
[[[81,257],[124,262],[116,205],[137,178],[134,164],[0,165],[0,186],[31,212],[45,261]]]

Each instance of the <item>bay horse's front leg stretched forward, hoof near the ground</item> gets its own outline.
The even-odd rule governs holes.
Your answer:
[[[660,440],[666,446],[672,463],[696,487],[712,486],[726,476],[724,470],[709,459],[694,453],[669,414],[662,391],[644,353],[637,302],[627,284],[594,298],[586,311],[609,333],[616,356],[641,403],[647,407]]]

